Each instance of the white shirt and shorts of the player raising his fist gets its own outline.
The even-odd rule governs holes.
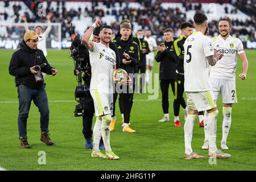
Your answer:
[[[113,111],[113,65],[115,52],[102,43],[94,42],[89,49],[92,78],[90,80],[90,94],[93,98],[96,117],[112,114]]]

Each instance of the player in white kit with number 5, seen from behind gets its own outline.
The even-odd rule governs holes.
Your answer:
[[[184,90],[187,94],[188,117],[184,125],[185,159],[204,158],[192,150],[191,141],[193,125],[199,111],[208,112],[208,156],[213,158],[229,158],[230,154],[224,154],[217,149],[216,132],[218,110],[209,81],[209,65],[213,66],[223,56],[220,52],[214,52],[212,42],[205,36],[207,30],[207,16],[196,13],[193,17],[196,31],[188,36],[184,43]]]

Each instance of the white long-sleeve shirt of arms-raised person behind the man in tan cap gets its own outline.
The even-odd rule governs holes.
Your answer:
[[[24,27],[25,27],[26,32],[29,31],[27,22],[25,22]],[[39,36],[42,36],[42,38],[39,38],[39,40],[38,40],[38,49],[41,49],[43,51],[44,56],[47,56],[46,39],[47,39],[51,29],[52,29],[51,21],[48,21],[46,31],[44,31],[42,34],[39,35]]]

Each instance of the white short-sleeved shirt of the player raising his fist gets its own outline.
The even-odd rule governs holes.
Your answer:
[[[103,93],[113,93],[113,65],[116,63],[115,52],[102,43],[94,42],[89,49],[92,78],[90,90],[97,89]]]

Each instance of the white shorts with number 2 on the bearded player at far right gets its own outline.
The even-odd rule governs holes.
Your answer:
[[[219,78],[210,78],[214,98],[217,101],[220,93],[222,94],[222,102],[224,104],[237,103],[236,81],[223,80]]]

